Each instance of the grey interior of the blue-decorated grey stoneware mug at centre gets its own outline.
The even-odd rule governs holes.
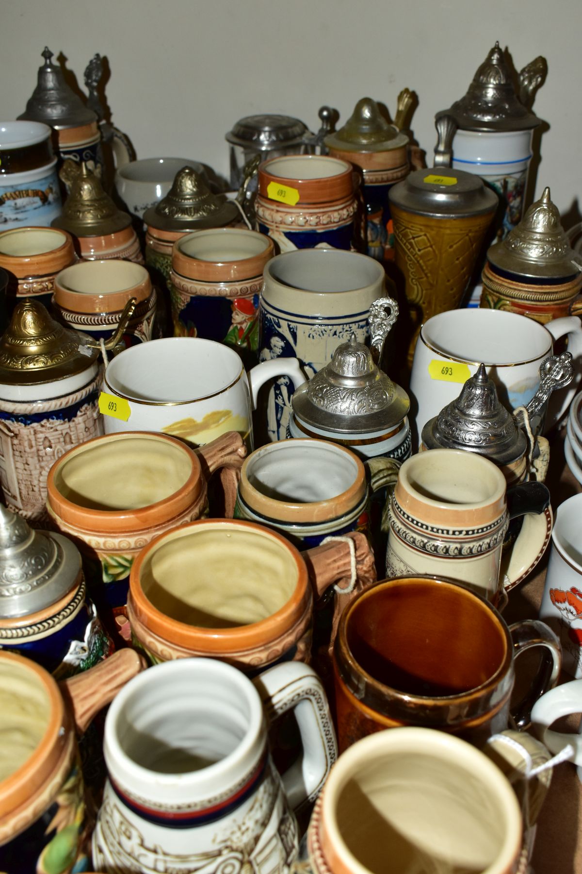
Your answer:
[[[289,288],[327,294],[365,288],[384,276],[379,261],[341,249],[300,249],[284,253],[270,260],[264,269],[265,274]]]

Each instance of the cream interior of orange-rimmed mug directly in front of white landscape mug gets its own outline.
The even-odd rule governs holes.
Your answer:
[[[192,474],[188,452],[154,434],[81,445],[58,464],[54,486],[87,510],[138,510],[174,495]]]

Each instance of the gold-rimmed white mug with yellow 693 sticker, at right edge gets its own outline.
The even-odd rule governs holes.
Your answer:
[[[574,396],[582,367],[578,316],[541,325],[498,309],[451,309],[428,319],[416,343],[410,378],[417,440],[428,420],[458,397],[462,385],[475,376],[482,362],[505,406],[515,409],[528,404],[539,387],[540,364],[551,355],[553,341],[565,335],[574,358],[575,377],[565,392],[558,392],[556,403],[551,403],[546,430],[560,419]]]

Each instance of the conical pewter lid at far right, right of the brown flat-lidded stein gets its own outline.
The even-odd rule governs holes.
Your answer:
[[[512,274],[562,281],[582,269],[582,255],[570,246],[549,188],[544,188],[542,197],[530,206],[503,243],[490,247],[487,260]]]

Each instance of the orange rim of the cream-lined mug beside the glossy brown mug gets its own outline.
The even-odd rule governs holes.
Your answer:
[[[144,563],[157,551],[161,545],[170,540],[188,537],[188,533],[199,528],[212,527],[216,530],[245,529],[255,531],[257,536],[275,540],[291,554],[291,558],[297,567],[298,580],[291,598],[277,610],[276,613],[267,616],[259,622],[250,625],[241,625],[234,628],[202,628],[188,625],[185,622],[172,619],[154,607],[147,598],[141,587],[141,569]],[[173,531],[166,531],[151,541],[135,559],[129,577],[129,592],[132,600],[134,613],[137,619],[158,635],[162,640],[176,643],[184,649],[202,650],[217,655],[226,655],[232,652],[240,652],[244,649],[253,649],[263,642],[276,640],[284,635],[291,626],[305,612],[305,597],[310,593],[310,581],[307,575],[307,567],[299,551],[277,531],[257,525],[254,522],[246,522],[242,519],[197,519]]]

